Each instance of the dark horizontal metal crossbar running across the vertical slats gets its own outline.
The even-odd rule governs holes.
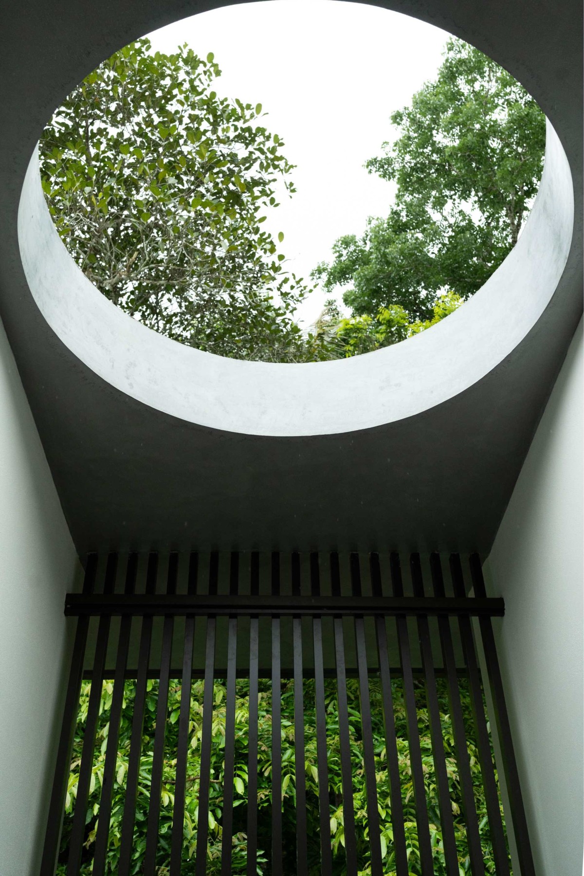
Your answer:
[[[102,615],[369,617],[399,615],[503,617],[502,598],[492,597],[264,597],[177,594],[67,593],[65,614]]]

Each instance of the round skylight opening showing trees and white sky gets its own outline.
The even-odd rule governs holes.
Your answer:
[[[516,244],[545,119],[461,40],[365,4],[242,4],[124,47],[40,143],[67,250],[145,326],[302,363],[404,341]]]

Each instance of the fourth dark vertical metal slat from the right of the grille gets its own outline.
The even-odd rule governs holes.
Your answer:
[[[419,562],[419,554],[410,557],[410,569],[412,570],[413,595],[424,597],[424,583],[422,569]],[[428,717],[430,718],[430,736],[432,738],[432,752],[434,772],[438,786],[438,803],[440,809],[440,823],[442,824],[442,844],[444,860],[448,876],[459,876],[458,851],[456,838],[454,837],[454,818],[452,815],[452,801],[448,788],[448,774],[444,744],[442,742],[442,723],[440,720],[440,704],[438,702],[438,690],[436,689],[436,676],[434,675],[434,662],[432,645],[430,641],[430,625],[427,616],[418,618],[418,637],[420,652],[422,654],[422,667],[426,679],[426,700],[428,705]]]

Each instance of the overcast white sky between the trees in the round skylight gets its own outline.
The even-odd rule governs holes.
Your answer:
[[[343,234],[385,215],[391,187],[363,169],[391,139],[389,117],[432,79],[448,34],[414,18],[336,0],[270,0],[204,12],[149,34],[171,52],[187,42],[215,53],[219,95],[262,103],[266,127],[285,141],[298,189],[268,216],[283,231],[286,266],[308,278]],[[324,295],[299,309],[311,324]]]

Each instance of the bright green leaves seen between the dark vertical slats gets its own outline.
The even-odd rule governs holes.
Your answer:
[[[456,766],[454,738],[449,714],[447,685],[445,679],[438,679],[440,701],[440,720],[442,724],[443,745],[447,757],[447,773],[451,789],[451,805],[461,876],[469,872],[468,844],[461,816],[461,787]],[[373,737],[376,757],[376,788],[382,830],[383,872],[395,872],[393,840],[391,830],[391,801],[385,756],[385,736],[383,729],[383,705],[379,680],[370,679],[370,699],[373,717]],[[336,682],[327,679],[327,769],[330,818],[330,843],[334,857],[334,873],[346,872],[344,857],[344,829],[342,809],[341,756],[339,743],[339,720],[337,709]],[[71,774],[67,788],[67,811],[61,840],[60,865],[58,873],[63,876],[67,863],[67,845],[75,806],[75,793],[79,778],[83,730],[88,710],[90,683],[85,683],[81,693],[81,709],[77,726]],[[194,852],[196,848],[198,795],[201,774],[201,733],[202,702],[204,682],[194,680],[191,687],[191,708],[189,723],[190,745],[187,758],[186,810],[184,822],[183,866],[182,872],[194,872]],[[426,804],[432,837],[434,873],[445,876],[446,868],[442,851],[440,811],[438,792],[433,765],[432,742],[426,706],[424,683],[415,682],[418,709],[419,735],[426,781]],[[130,729],[132,721],[135,682],[125,682],[125,699],[120,727],[116,781],[113,788],[112,816],[109,830],[108,873],[116,873],[119,856],[119,843],[123,815],[125,782],[130,753]],[[102,687],[102,712],[95,746],[95,758],[88,802],[86,823],[86,842],[83,850],[81,876],[89,876],[92,870],[95,831],[99,818],[101,783],[109,731],[109,707],[113,693],[112,684],[104,682]],[[294,704],[293,682],[283,681],[278,691],[282,706],[282,798],[284,872],[296,873],[296,819],[295,819],[295,767],[294,767]],[[412,876],[419,876],[419,846],[413,800],[412,772],[407,743],[406,714],[403,683],[400,679],[392,682],[394,717],[398,735],[398,760],[401,776],[402,802],[405,815],[405,830],[409,851],[409,866]],[[150,781],[154,724],[158,699],[158,681],[148,682],[144,733],[140,762],[140,781],[137,795],[137,816],[134,831],[134,851],[132,872],[141,872],[144,859],[146,821],[150,799]],[[209,803],[209,841],[208,871],[221,872],[222,844],[222,788],[224,781],[225,745],[225,682],[215,681],[213,711],[213,745]],[[309,872],[311,876],[320,873],[320,826],[318,803],[318,773],[315,732],[314,682],[304,684],[304,716],[306,729],[306,807],[308,825]],[[482,839],[482,852],[485,870],[495,873],[492,848],[489,841],[489,824],[482,790],[481,771],[476,751],[475,731],[471,714],[470,695],[467,682],[461,680],[461,702],[468,738],[468,753],[475,788],[475,800],[479,816]],[[161,794],[160,827],[158,842],[158,874],[165,876],[170,854],[172,827],[172,808],[174,801],[174,777],[176,767],[178,726],[179,726],[180,682],[172,681],[169,690],[166,717],[165,763]],[[359,690],[356,679],[348,679],[349,727],[351,743],[351,762],[355,800],[355,822],[360,873],[370,874],[368,825],[366,812],[366,793],[362,751],[362,725],[359,709]],[[248,785],[248,731],[249,731],[249,682],[238,680],[236,686],[236,765],[234,773],[234,828],[233,863],[231,872],[245,873],[247,852],[247,785]],[[271,682],[260,680],[258,700],[258,867],[259,874],[271,872]]]

